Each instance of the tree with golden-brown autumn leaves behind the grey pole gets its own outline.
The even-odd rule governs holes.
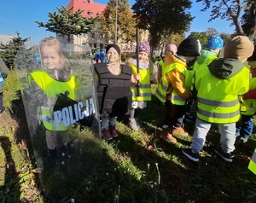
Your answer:
[[[131,7],[127,0],[118,1],[117,41],[128,43],[136,41],[137,21],[132,17]],[[116,28],[116,0],[110,0],[102,14],[102,31],[108,40],[115,41]]]

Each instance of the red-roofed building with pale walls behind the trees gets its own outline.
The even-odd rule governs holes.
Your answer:
[[[67,9],[72,9],[73,12],[78,10],[83,10],[83,17],[90,18],[96,17],[97,15],[102,14],[103,10],[106,8],[106,5],[102,3],[95,3],[93,0],[71,0],[67,5]],[[101,32],[100,25],[97,26],[95,32],[83,34],[83,35],[73,35],[71,37],[72,44],[89,44],[91,48],[105,48],[108,44],[107,38]],[[57,34],[57,38],[61,43],[67,43],[67,36],[60,36]]]

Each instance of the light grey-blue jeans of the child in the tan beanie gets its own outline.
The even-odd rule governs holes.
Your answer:
[[[212,124],[196,119],[195,131],[193,134],[193,141],[191,144],[192,152],[199,153],[203,148],[207,133],[210,130]],[[220,144],[224,153],[233,152],[236,142],[236,123],[232,124],[218,124],[218,131],[220,133]]]

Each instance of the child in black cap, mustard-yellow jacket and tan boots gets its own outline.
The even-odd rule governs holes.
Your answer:
[[[170,142],[177,142],[173,135],[188,136],[183,129],[186,104],[191,98],[185,87],[183,72],[188,63],[200,54],[201,44],[197,38],[186,38],[177,48],[177,54],[169,53],[165,58],[165,74],[161,78],[155,96],[169,105],[169,120],[163,126],[162,136]]]

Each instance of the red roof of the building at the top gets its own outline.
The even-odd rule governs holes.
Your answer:
[[[67,5],[67,9],[73,7],[73,12],[78,10],[84,10],[83,17],[96,17],[98,14],[102,14],[106,5],[102,3],[95,3],[93,0],[71,0]]]

